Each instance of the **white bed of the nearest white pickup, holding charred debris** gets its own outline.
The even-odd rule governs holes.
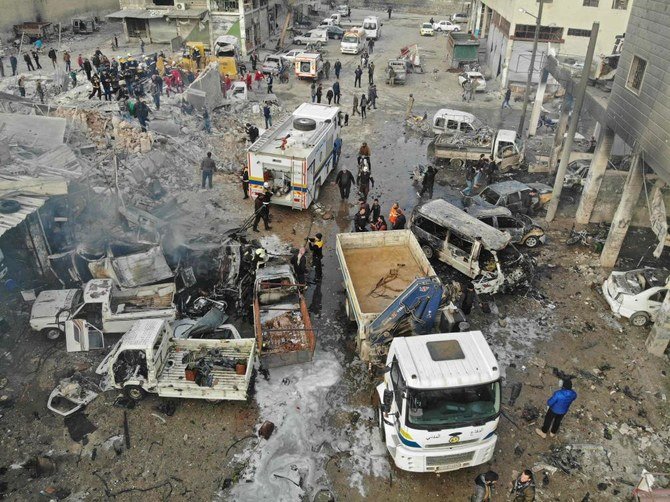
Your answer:
[[[208,400],[247,399],[247,389],[253,372],[255,341],[253,338],[241,340],[175,340],[168,353],[163,371],[158,376],[158,395],[163,397],[186,397]],[[184,356],[189,352],[209,353],[209,360],[244,360],[247,370],[238,375],[235,367],[214,366],[211,371],[213,386],[200,386],[186,380]],[[214,353],[213,351],[216,351]]]

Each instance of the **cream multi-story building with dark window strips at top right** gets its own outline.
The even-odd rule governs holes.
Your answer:
[[[597,55],[613,51],[617,35],[626,31],[637,0],[544,0],[535,80],[551,48],[561,55],[586,54],[591,25],[600,21]],[[525,82],[533,49],[539,0],[475,0],[468,25],[486,39],[486,63],[502,86]]]

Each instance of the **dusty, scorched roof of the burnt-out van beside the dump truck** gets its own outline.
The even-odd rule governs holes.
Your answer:
[[[419,214],[440,225],[455,229],[469,239],[481,239],[486,249],[498,251],[510,243],[509,234],[479,221],[474,216],[450,204],[446,200],[436,199],[419,206]]]

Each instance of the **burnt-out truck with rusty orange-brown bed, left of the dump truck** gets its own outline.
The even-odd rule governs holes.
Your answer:
[[[316,337],[307,302],[289,265],[267,265],[256,272],[254,330],[265,368],[309,362]]]

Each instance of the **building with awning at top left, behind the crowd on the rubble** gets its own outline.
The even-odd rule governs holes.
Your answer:
[[[127,39],[152,43],[181,41],[211,44],[221,35],[240,40],[243,55],[281,29],[289,9],[281,0],[120,0],[109,18],[123,20]]]

